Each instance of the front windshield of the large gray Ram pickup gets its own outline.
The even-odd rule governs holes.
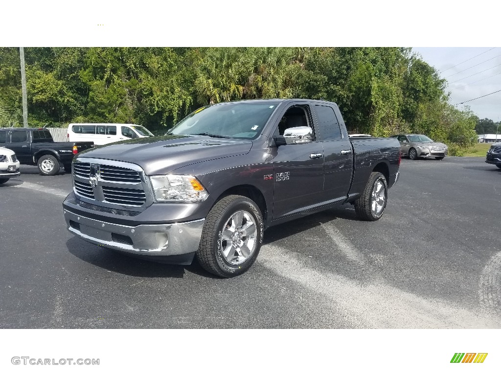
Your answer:
[[[254,139],[261,134],[278,104],[236,102],[202,107],[177,123],[168,134]]]

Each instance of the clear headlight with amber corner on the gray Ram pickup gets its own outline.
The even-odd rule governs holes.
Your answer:
[[[191,175],[150,176],[155,201],[204,201],[209,195],[205,188]]]

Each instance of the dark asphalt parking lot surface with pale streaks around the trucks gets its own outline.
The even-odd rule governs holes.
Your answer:
[[[501,169],[403,159],[383,218],[351,205],[265,232],[220,279],[72,236],[71,176],[0,185],[0,328],[501,328]]]

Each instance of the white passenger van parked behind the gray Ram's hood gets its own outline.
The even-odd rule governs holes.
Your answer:
[[[94,145],[149,136],[153,134],[141,125],[113,123],[71,123],[67,134],[69,142],[93,141]]]

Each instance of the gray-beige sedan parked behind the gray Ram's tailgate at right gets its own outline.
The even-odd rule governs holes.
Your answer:
[[[398,139],[402,156],[408,156],[409,159],[435,158],[441,160],[448,152],[446,144],[435,142],[424,134],[396,134],[391,137]]]

